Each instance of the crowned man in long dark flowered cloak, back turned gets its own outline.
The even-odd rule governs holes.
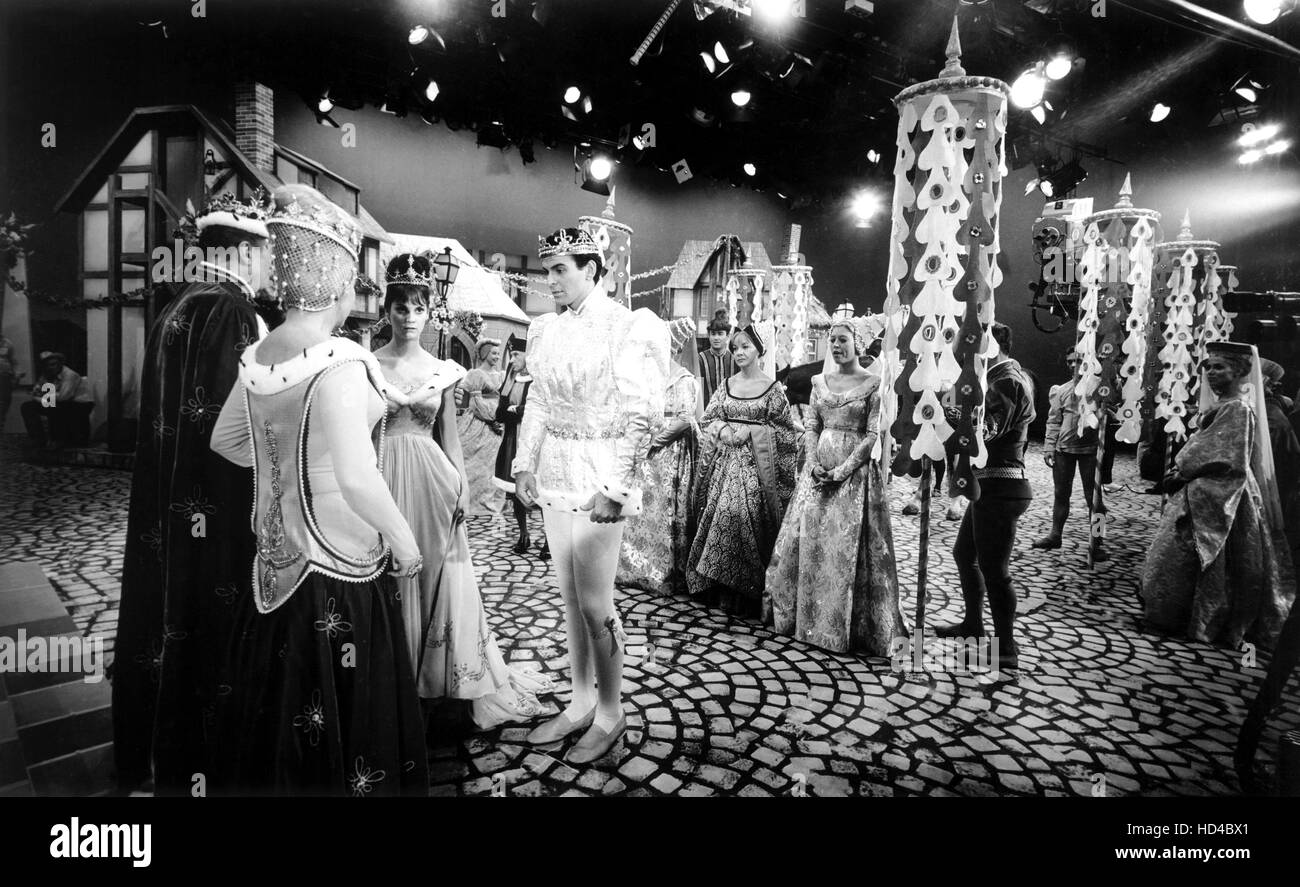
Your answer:
[[[194,220],[205,261],[150,330],[113,662],[118,788],[211,774],[216,666],[250,584],[252,472],[208,449],[239,354],[266,330],[266,207],[222,195]],[[192,272],[191,272],[192,273]],[[268,312],[269,315],[269,312]],[[274,320],[274,317],[273,317]]]

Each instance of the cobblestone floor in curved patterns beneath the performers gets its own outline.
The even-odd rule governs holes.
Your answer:
[[[129,475],[16,464],[4,444],[0,563],[46,568],[77,624],[116,631]],[[1022,670],[1010,675],[894,671],[888,659],[824,653],[686,600],[624,589],[629,732],[593,766],[563,745],[523,744],[526,727],[430,749],[436,795],[1231,795],[1231,749],[1268,658],[1143,632],[1136,572],[1158,498],[1121,457],[1110,501],[1112,559],[1086,566],[1076,507],[1060,551],[1035,551],[1050,476],[1031,453],[1039,498],[1020,523]],[[910,481],[892,485],[904,613],[915,614],[916,519]],[[1078,489],[1076,489],[1078,494]],[[540,538],[534,528],[534,538]],[[936,515],[930,626],[961,615],[949,550],[957,522]],[[1072,535],[1072,540],[1071,540]],[[471,519],[484,600],[506,657],[551,674],[568,698],[562,611],[549,563],[510,550],[510,531]],[[654,644],[654,659],[647,655]],[[1300,727],[1300,695],[1261,747]]]

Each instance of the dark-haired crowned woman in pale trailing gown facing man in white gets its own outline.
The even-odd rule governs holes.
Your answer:
[[[428,260],[395,256],[386,282],[384,311],[393,341],[374,352],[390,399],[381,462],[384,480],[425,554],[420,575],[400,583],[417,689],[428,700],[472,700],[480,728],[528,721],[542,713],[537,693],[550,685],[506,663],[469,555],[469,485],[455,421],[455,386],[464,369],[420,346],[430,313]]]

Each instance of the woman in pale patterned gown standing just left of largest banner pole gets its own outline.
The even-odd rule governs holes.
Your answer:
[[[853,321],[831,325],[828,368],[812,377],[803,433],[809,454],[772,562],[764,622],[781,635],[835,653],[890,655],[907,635],[889,497],[871,458],[880,376],[863,369],[864,337]]]

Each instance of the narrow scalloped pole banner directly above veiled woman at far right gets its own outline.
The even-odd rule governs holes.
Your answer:
[[[1197,313],[1204,326],[1204,308],[1197,312],[1197,291],[1204,295],[1206,269],[1218,264],[1218,243],[1197,241],[1192,237],[1191,213],[1184,213],[1183,226],[1174,241],[1156,245],[1160,277],[1167,271],[1164,287],[1157,298],[1164,295],[1164,347],[1157,352],[1160,360],[1158,381],[1156,384],[1156,419],[1165,421],[1165,432],[1173,440],[1187,437],[1188,404],[1196,391],[1196,372],[1200,368],[1197,334]],[[1217,294],[1218,276],[1214,274]],[[1222,312],[1219,312],[1222,313]],[[1173,450],[1170,450],[1173,451]]]

